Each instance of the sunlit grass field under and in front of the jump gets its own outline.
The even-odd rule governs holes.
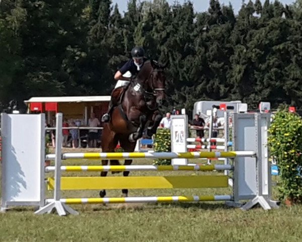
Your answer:
[[[195,160],[197,161],[197,160]],[[80,163],[81,162],[81,163]],[[133,164],[150,164],[139,160]],[[68,160],[66,165],[98,164]],[[200,172],[202,173],[202,172]],[[217,172],[205,172],[205,174]],[[132,172],[130,175],[196,175],[193,171]],[[220,172],[219,174],[222,174]],[[48,173],[47,175],[51,175]],[[99,175],[68,172],[64,175]],[[110,174],[112,175],[112,174]],[[114,174],[121,175],[121,174]],[[65,198],[98,197],[99,191],[64,191]],[[228,195],[231,189],[131,190],[129,196]],[[276,189],[274,189],[276,195]],[[47,192],[51,197],[52,193]],[[121,191],[107,191],[120,197]],[[302,241],[302,206],[243,212],[223,202],[72,205],[79,216],[34,215],[33,208],[0,214],[0,241]]]

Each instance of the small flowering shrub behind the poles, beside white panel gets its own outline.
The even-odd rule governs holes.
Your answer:
[[[170,129],[158,129],[154,139],[155,152],[171,152]],[[155,165],[171,165],[171,159],[155,159]]]

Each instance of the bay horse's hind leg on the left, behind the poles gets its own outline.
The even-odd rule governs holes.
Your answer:
[[[102,134],[102,152],[113,152],[116,147],[118,140],[113,131],[109,129],[108,125],[104,126]],[[102,165],[108,165],[108,160],[102,160]],[[101,171],[101,176],[107,176],[107,171]],[[100,191],[100,197],[104,198],[106,196],[106,191]]]

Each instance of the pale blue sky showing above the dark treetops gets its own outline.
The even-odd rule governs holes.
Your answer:
[[[175,0],[168,0],[169,4],[173,4]],[[112,0],[113,6],[117,3],[118,7],[119,7],[119,11],[120,13],[123,15],[123,12],[125,12],[127,10],[127,0]],[[138,2],[138,1],[137,1]],[[177,2],[179,2],[180,4],[183,4],[184,2],[186,2],[185,0],[178,0]],[[209,0],[191,0],[191,2],[193,3],[194,6],[194,10],[195,12],[205,12],[207,11],[208,7],[209,7]],[[224,5],[229,5],[229,3],[231,2],[235,14],[238,13],[238,11],[241,8],[242,5],[242,0],[220,0],[219,1],[220,4],[224,4]],[[246,0],[245,3],[248,3],[249,0]],[[253,2],[255,3],[255,0],[253,0]],[[261,0],[262,3],[265,2],[265,0]],[[274,2],[272,0],[270,0],[270,2]],[[292,4],[293,2],[295,2],[294,0],[279,0],[279,2],[281,2],[283,5],[287,4]]]

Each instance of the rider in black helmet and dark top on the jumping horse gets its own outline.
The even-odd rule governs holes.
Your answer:
[[[131,50],[131,56],[132,58],[129,59],[129,61],[126,62],[125,65],[122,66],[120,70],[115,73],[114,75],[115,80],[130,82],[131,77],[135,76],[139,72],[143,63],[147,60],[144,57],[144,49],[142,47],[134,47]],[[125,77],[127,75],[124,74],[126,74],[127,72],[131,74],[131,77]],[[111,93],[111,100],[109,103],[108,112],[103,115],[102,122],[108,123],[110,121],[110,113],[113,107],[117,104],[120,94],[120,91],[116,92],[117,89],[118,88],[116,87]],[[115,92],[117,93],[117,95],[114,95]]]

